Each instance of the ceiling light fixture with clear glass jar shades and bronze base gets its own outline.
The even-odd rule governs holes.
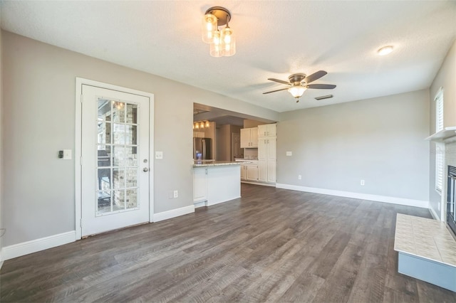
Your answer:
[[[212,57],[232,56],[236,53],[236,41],[233,30],[229,27],[231,14],[222,6],[207,9],[202,19],[202,41],[210,43]],[[225,26],[222,31],[219,26]]]

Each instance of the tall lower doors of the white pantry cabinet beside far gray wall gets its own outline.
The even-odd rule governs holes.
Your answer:
[[[258,142],[258,181],[276,182],[276,137],[261,137]]]

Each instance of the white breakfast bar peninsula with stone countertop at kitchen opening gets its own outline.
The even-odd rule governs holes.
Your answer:
[[[195,208],[240,198],[242,163],[239,161],[195,161],[193,164]]]

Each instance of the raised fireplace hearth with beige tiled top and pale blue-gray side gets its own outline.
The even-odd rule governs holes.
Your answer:
[[[456,292],[456,241],[439,220],[398,213],[398,272]]]

